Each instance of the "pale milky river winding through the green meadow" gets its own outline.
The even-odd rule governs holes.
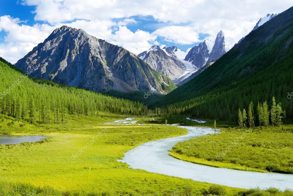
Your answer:
[[[169,156],[168,150],[178,142],[194,137],[214,133],[211,128],[179,126],[188,129],[187,135],[171,137],[143,143],[126,152],[120,162],[127,163],[130,168],[143,169],[149,172],[166,174],[195,181],[208,182],[238,188],[261,189],[275,187],[280,190],[293,189],[293,174],[261,173],[216,168],[194,164]],[[217,131],[219,133],[219,130]],[[268,155],[269,156],[269,155]]]

